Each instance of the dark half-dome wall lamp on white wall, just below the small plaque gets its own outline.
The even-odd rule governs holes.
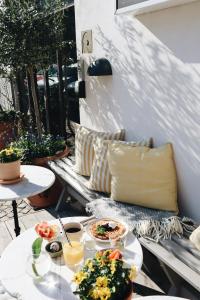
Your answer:
[[[87,74],[89,76],[112,75],[111,64],[106,58],[99,58],[89,65]]]

